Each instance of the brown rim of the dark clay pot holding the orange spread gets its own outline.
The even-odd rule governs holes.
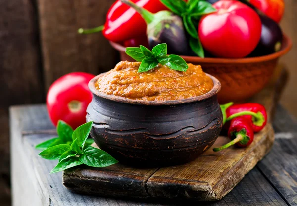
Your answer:
[[[198,97],[191,97],[191,98],[187,98],[187,99],[168,100],[168,101],[131,100],[131,99],[127,99],[127,98],[123,98],[123,97],[117,97],[117,96],[114,96],[114,95],[107,95],[107,94],[99,92],[95,88],[95,82],[99,79],[99,77],[103,76],[104,74],[105,73],[99,74],[96,77],[94,77],[93,79],[91,79],[91,81],[89,82],[90,91],[94,95],[96,95],[98,97],[101,97],[101,98],[104,98],[104,99],[107,99],[107,100],[111,100],[111,101],[115,101],[115,102],[119,102],[119,103],[129,103],[129,104],[138,104],[138,105],[154,105],[154,106],[191,103],[191,102],[198,102],[198,101],[202,101],[202,100],[211,98],[211,97],[217,95],[219,93],[219,91],[221,90],[221,83],[219,82],[219,80],[217,78],[215,78],[214,76],[206,73],[206,75],[209,76],[213,81],[213,88],[204,95],[200,95]]]

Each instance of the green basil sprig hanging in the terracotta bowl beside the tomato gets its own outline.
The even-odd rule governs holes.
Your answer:
[[[191,49],[201,58],[204,58],[204,50],[198,37],[198,23],[203,15],[216,11],[212,5],[204,0],[160,0],[173,13],[183,19],[186,31],[189,34]]]

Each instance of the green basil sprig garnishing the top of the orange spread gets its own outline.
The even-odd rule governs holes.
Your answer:
[[[140,47],[127,47],[127,55],[136,61],[141,61],[138,73],[149,71],[159,63],[163,66],[177,71],[187,71],[188,64],[178,55],[167,55],[167,44],[158,44],[151,51],[140,45]]]

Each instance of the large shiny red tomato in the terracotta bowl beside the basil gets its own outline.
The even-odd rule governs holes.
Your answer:
[[[202,17],[198,26],[205,50],[223,58],[242,58],[251,53],[261,37],[258,14],[236,0],[220,0],[213,7],[217,11]]]

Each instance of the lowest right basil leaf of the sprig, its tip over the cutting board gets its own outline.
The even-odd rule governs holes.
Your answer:
[[[79,160],[91,167],[107,167],[118,161],[103,150],[99,150],[92,146],[87,147]]]

